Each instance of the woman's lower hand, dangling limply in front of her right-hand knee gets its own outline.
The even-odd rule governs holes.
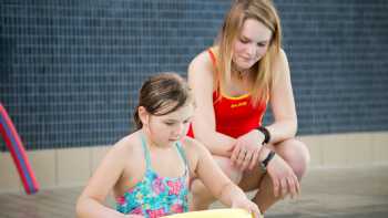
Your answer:
[[[268,163],[267,173],[273,181],[275,197],[286,197],[287,194],[292,198],[299,195],[299,181],[294,170],[278,155]]]

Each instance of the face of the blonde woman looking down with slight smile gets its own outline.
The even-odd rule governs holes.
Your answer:
[[[247,19],[233,42],[232,61],[241,70],[252,68],[267,52],[272,31],[255,19]]]

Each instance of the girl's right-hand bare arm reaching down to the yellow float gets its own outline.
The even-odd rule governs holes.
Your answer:
[[[252,203],[244,191],[233,184],[233,181],[221,170],[211,153],[205,149],[198,142],[192,141],[195,154],[195,175],[204,183],[221,203],[229,207],[238,207],[253,212],[259,217],[257,205]]]

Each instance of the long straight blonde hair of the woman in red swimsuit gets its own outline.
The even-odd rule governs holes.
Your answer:
[[[253,66],[254,73],[249,74],[249,92],[253,104],[256,105],[268,97],[276,73],[273,62],[279,54],[282,44],[280,20],[270,0],[236,0],[233,3],[216,42],[219,58],[217,59],[215,87],[217,92],[223,91],[225,82],[232,77],[233,42],[239,37],[247,19],[255,19],[272,31],[267,52]]]

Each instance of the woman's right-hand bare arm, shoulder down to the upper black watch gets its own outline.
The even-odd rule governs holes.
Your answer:
[[[282,50],[279,59],[275,62],[277,77],[270,91],[270,107],[274,123],[266,126],[270,133],[270,144],[292,138],[297,131],[297,116],[293,87],[289,75],[289,66],[286,53]]]

